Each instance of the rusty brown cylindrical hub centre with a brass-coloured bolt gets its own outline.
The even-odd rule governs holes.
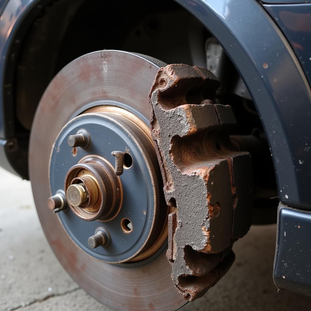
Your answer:
[[[120,210],[121,180],[109,161],[100,156],[86,156],[73,165],[64,188],[69,207],[82,220],[107,221]]]

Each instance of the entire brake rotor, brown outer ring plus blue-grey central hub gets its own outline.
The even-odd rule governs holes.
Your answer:
[[[161,221],[167,207],[161,201],[155,151],[148,145],[148,94],[162,66],[142,55],[111,50],[76,59],[45,91],[30,137],[30,180],[49,244],[72,278],[114,310],[174,310],[185,303],[171,281],[165,256],[167,226]],[[67,138],[80,130],[90,135],[91,145],[71,148]],[[113,176],[111,152],[118,148],[132,156],[133,167],[124,169],[124,176]],[[98,174],[108,176],[110,188],[107,183],[103,188],[104,177]],[[133,176],[140,178],[139,187]],[[83,197],[82,181],[89,187],[88,197]],[[70,208],[53,215],[47,199],[62,197],[65,191],[68,196],[69,186],[81,190],[81,200],[76,204],[73,192]],[[130,218],[126,214],[134,217],[129,229],[137,233],[133,240],[132,233],[122,235],[123,220]],[[102,227],[111,241],[97,251],[88,247],[87,238]]]

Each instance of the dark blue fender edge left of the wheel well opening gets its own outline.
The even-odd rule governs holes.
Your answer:
[[[18,174],[18,167],[10,161],[14,149],[16,150],[14,131],[14,111],[7,96],[14,92],[10,83],[6,83],[10,62],[14,58],[14,50],[21,44],[20,36],[27,30],[27,22],[32,21],[33,16],[45,5],[48,0],[0,0],[0,165],[8,171]],[[21,26],[22,25],[22,26]],[[11,51],[11,53],[9,53]],[[24,176],[26,177],[26,176]]]

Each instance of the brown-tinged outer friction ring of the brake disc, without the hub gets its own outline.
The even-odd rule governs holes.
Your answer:
[[[99,51],[67,65],[48,86],[35,116],[30,138],[32,190],[44,233],[58,260],[91,296],[114,310],[174,310],[185,300],[174,289],[165,250],[145,264],[112,265],[86,254],[69,237],[46,206],[49,158],[63,126],[91,106],[105,104],[150,119],[148,94],[160,66],[143,56]],[[86,237],[87,238],[87,237]]]

